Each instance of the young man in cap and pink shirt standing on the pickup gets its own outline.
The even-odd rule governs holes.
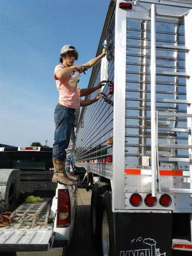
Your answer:
[[[70,140],[70,132],[75,120],[75,111],[80,107],[80,97],[86,95],[88,89],[79,89],[76,86],[70,86],[72,75],[79,71],[83,72],[96,65],[104,56],[102,54],[88,61],[84,65],[74,65],[74,61],[78,58],[78,53],[72,45],[64,45],[61,48],[60,62],[54,69],[54,79],[60,93],[59,102],[54,110],[54,122],[56,129],[54,132],[54,144],[52,147],[52,163],[54,165],[54,175],[52,182],[61,182],[67,185],[73,185],[74,179],[70,179],[65,171],[65,158],[68,143]]]

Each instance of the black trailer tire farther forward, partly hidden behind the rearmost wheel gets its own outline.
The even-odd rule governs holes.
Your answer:
[[[93,244],[101,250],[102,195],[109,190],[107,183],[98,182],[93,186],[91,202],[91,224]]]

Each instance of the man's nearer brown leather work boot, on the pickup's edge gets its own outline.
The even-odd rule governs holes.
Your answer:
[[[59,158],[52,158],[54,174],[52,182],[61,182],[66,185],[74,185],[74,180],[70,179],[65,172],[65,161]]]

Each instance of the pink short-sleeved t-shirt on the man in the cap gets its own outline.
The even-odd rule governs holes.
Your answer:
[[[56,86],[58,89],[58,92],[60,93],[59,102],[61,105],[68,107],[68,108],[79,108],[80,107],[80,97],[77,92],[77,85],[72,87],[68,84],[68,81],[70,80],[71,74],[69,74],[67,77],[62,79],[58,79],[56,77],[56,71],[63,69],[63,65],[57,65],[54,68],[54,79],[56,80]],[[75,71],[75,70],[74,70]]]

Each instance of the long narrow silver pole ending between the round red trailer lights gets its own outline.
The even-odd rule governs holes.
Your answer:
[[[151,44],[150,44],[150,104],[151,104],[151,170],[152,170],[152,196],[157,192],[156,173],[156,4],[150,8],[151,16]]]

